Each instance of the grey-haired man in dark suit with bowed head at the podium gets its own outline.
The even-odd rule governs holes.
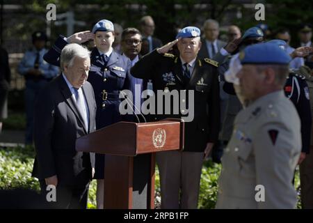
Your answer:
[[[75,151],[75,141],[95,130],[96,103],[86,82],[90,52],[76,43],[61,52],[61,70],[35,104],[33,176],[56,187],[56,208],[86,208],[94,154]]]

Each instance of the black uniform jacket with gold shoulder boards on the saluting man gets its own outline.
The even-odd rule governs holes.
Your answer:
[[[183,118],[188,116],[181,107],[188,108],[188,91],[194,91],[194,118],[185,123],[184,151],[203,152],[207,142],[218,139],[220,125],[220,99],[217,69],[218,63],[209,59],[196,59],[191,79],[183,75],[182,61],[172,54],[159,54],[157,50],[143,56],[134,67],[131,75],[138,78],[152,79],[156,95],[156,114],[150,114],[148,120],[160,121],[163,118]],[[182,91],[177,102],[177,114],[171,100],[170,114],[157,114],[157,90],[170,92]],[[184,99],[186,93],[186,100]],[[163,97],[164,98],[164,97]],[[187,106],[186,106],[187,105]]]

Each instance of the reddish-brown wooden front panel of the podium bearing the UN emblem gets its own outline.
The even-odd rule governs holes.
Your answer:
[[[157,141],[157,139],[160,140]],[[137,154],[178,150],[180,148],[179,139],[179,122],[141,123],[137,128]]]

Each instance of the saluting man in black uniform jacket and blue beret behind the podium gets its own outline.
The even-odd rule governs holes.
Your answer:
[[[157,153],[157,164],[161,180],[161,208],[197,208],[204,155],[209,154],[218,139],[218,63],[207,58],[198,59],[201,42],[200,29],[197,27],[185,27],[176,38],[143,56],[131,68],[131,75],[152,79],[154,93],[157,90],[163,90],[164,93],[184,91],[186,100],[179,95],[179,105],[188,105],[189,100],[193,100],[194,118],[185,123],[184,151]],[[168,54],[175,44],[179,49],[179,56]],[[191,91],[194,92],[194,98],[188,98]],[[171,107],[172,105],[173,101]],[[178,114],[174,114],[173,109],[175,107],[170,114],[165,114],[163,107],[163,114],[151,114],[150,118],[159,121],[168,117],[186,117],[184,109],[180,109]]]

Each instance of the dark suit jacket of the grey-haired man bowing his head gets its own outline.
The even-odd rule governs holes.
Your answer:
[[[83,127],[71,91],[63,75],[42,89],[35,103],[33,176],[57,175],[59,185],[82,185],[92,178],[93,153],[77,152],[75,141],[95,130],[96,103],[89,82],[82,86],[89,109],[89,129]],[[90,162],[90,155],[92,161]]]

